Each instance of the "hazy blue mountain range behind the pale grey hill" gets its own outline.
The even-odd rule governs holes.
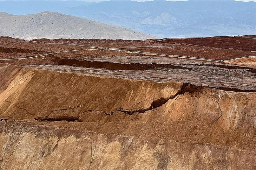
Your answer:
[[[35,8],[32,8],[34,7]],[[256,2],[233,0],[0,1],[0,11],[51,10],[159,37],[256,34]]]

